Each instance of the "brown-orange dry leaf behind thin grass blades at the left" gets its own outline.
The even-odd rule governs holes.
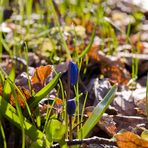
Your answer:
[[[31,98],[31,92],[30,92],[28,89],[25,89],[24,87],[18,86],[18,88],[19,88],[19,90],[20,90],[20,92],[21,92],[21,94],[20,94],[20,92],[18,92],[18,91],[16,90],[16,95],[17,95],[18,102],[19,102],[19,104],[20,104],[20,106],[21,106],[22,108],[25,108],[25,101],[24,101],[24,99],[25,99],[26,101],[28,101],[28,100]],[[23,97],[22,97],[22,95],[23,95]],[[10,101],[10,104],[11,104],[12,106],[15,106],[15,101],[14,101],[14,96],[13,96],[13,94],[10,95],[9,101]]]

